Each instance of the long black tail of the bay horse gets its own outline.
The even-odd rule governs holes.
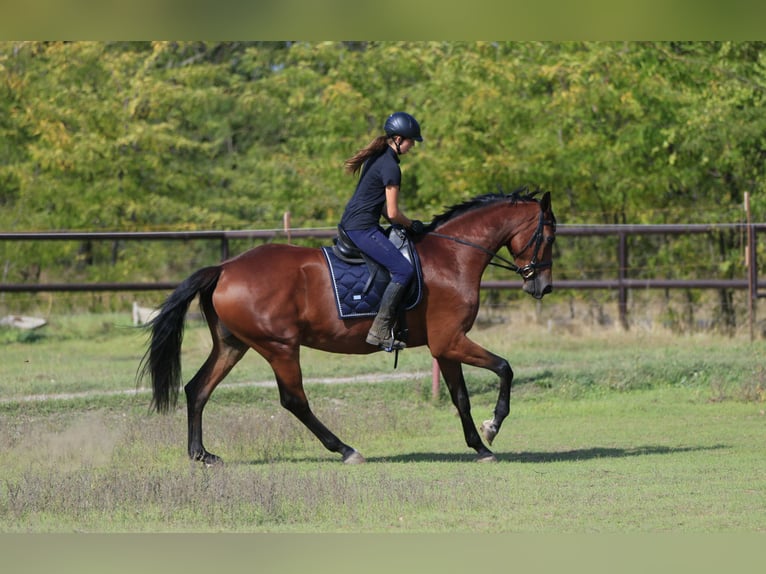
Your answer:
[[[139,380],[152,379],[152,405],[165,413],[178,402],[181,386],[181,341],[189,305],[197,296],[210,298],[221,274],[220,266],[204,267],[187,277],[147,325],[149,347],[139,365]]]

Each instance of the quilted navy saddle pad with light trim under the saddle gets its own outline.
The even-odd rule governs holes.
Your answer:
[[[391,234],[392,237],[396,235]],[[397,244],[395,239],[392,239]],[[420,259],[417,252],[411,248],[409,242],[404,242],[399,250],[415,267],[415,276],[405,296],[405,309],[410,310],[420,303],[422,296],[423,278],[420,270]],[[367,263],[349,263],[340,259],[332,247],[322,247],[327,266],[330,270],[335,293],[335,303],[338,307],[338,316],[341,319],[354,317],[372,317],[378,313],[383,291],[390,280],[387,269],[376,266],[373,273]]]

